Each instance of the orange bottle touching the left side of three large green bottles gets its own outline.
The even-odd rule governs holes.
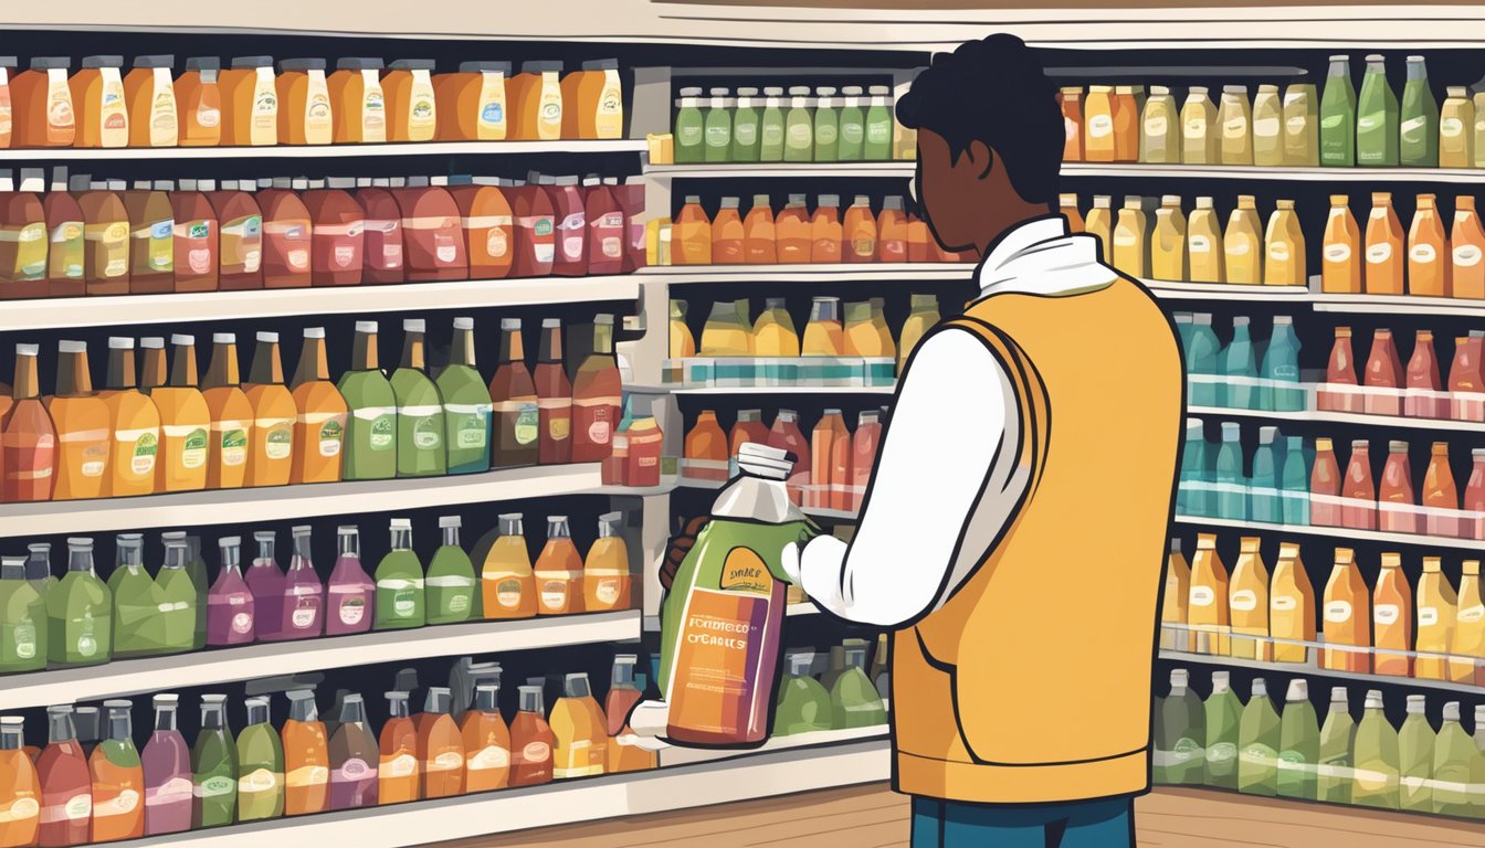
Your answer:
[[[330,382],[324,327],[304,328],[291,389],[296,416],[290,444],[297,450],[290,454],[290,483],[339,483],[349,410]]]

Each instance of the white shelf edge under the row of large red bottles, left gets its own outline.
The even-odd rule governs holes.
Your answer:
[[[0,306],[0,330],[590,303],[636,300],[639,293],[636,275],[618,275],[7,300]]]

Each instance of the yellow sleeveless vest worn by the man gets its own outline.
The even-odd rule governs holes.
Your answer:
[[[992,294],[950,325],[1010,373],[1031,484],[953,597],[895,634],[895,787],[982,803],[1143,792],[1182,428],[1172,325],[1124,278]]]

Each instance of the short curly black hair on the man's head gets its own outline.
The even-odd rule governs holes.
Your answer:
[[[1066,141],[1057,89],[1037,53],[1016,36],[996,33],[937,53],[897,101],[897,120],[941,135],[952,160],[971,141],[983,141],[1005,163],[1023,200],[1057,198]]]

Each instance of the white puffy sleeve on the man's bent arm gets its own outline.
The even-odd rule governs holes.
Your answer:
[[[827,612],[882,627],[941,606],[1026,492],[1020,438],[1019,401],[990,348],[968,330],[930,336],[903,376],[855,538],[806,545],[802,588]]]

